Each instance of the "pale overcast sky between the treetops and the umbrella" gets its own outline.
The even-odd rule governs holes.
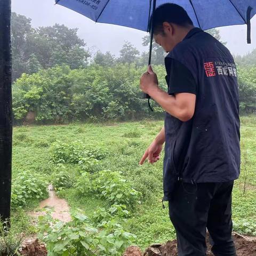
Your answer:
[[[140,0],[138,0],[140,1]],[[131,42],[140,51],[147,50],[141,45],[146,32],[115,25],[95,23],[90,19],[60,5],[54,0],[12,0],[12,11],[32,19],[33,27],[64,24],[69,28],[78,28],[83,38],[94,51],[110,51],[118,55],[124,41]],[[220,28],[222,41],[233,54],[246,54],[256,48],[256,15],[251,22],[252,44],[246,43],[246,25]]]

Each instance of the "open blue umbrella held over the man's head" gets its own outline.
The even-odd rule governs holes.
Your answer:
[[[55,0],[55,3],[85,15],[95,22],[150,31],[149,18],[155,7],[165,3],[182,6],[196,27],[203,30],[247,24],[247,43],[251,43],[250,20],[256,13],[256,0]],[[153,18],[154,19],[154,18]],[[150,38],[151,61],[153,33]],[[150,98],[145,95],[145,98]]]

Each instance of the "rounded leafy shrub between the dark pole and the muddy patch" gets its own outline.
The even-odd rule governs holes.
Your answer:
[[[39,174],[23,172],[13,180],[12,207],[26,205],[31,199],[44,199],[47,195],[47,182]]]

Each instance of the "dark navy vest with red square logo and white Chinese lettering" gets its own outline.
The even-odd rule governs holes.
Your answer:
[[[228,49],[203,30],[192,29],[165,58],[185,65],[197,83],[195,114],[188,122],[166,113],[164,195],[178,179],[225,182],[239,176],[239,102],[237,70]]]

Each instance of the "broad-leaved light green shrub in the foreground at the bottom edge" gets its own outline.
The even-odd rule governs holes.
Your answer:
[[[40,217],[40,229],[48,255],[121,255],[134,235],[115,221],[95,228],[83,212],[73,214],[68,223],[57,222],[50,215]]]

